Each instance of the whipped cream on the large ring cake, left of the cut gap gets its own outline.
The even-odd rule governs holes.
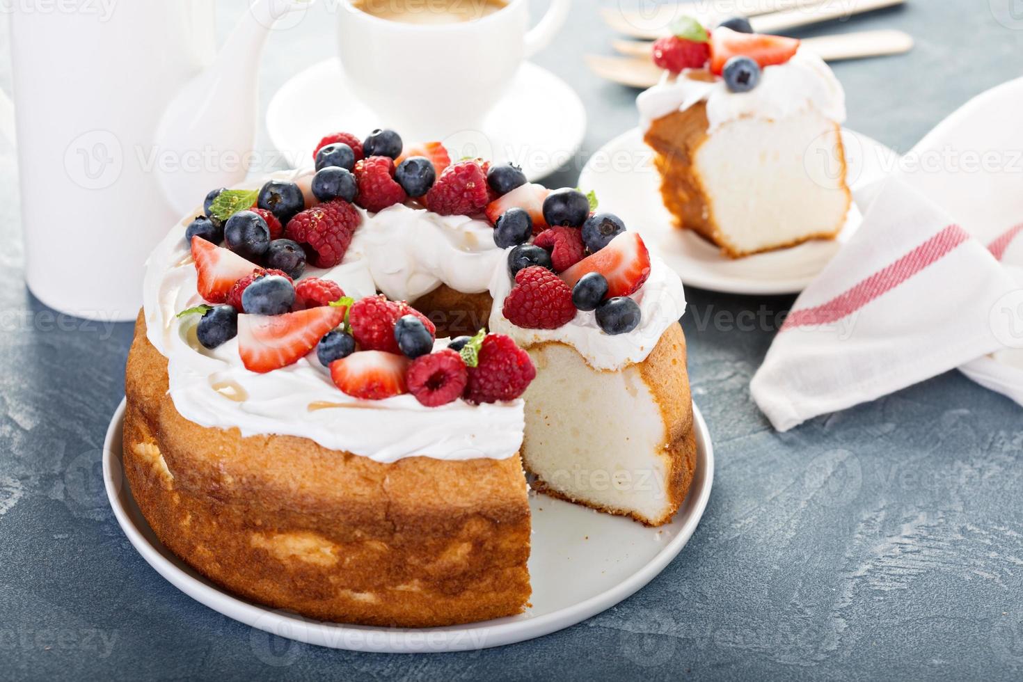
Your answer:
[[[176,317],[203,303],[184,239],[187,222],[157,246],[143,284],[147,335],[168,360],[171,399],[183,417],[203,426],[237,427],[243,437],[309,438],[386,463],[413,456],[503,459],[519,451],[522,400],[478,406],[459,400],[442,407],[425,407],[411,395],[362,401],[333,385],[315,353],[260,374],[242,365],[237,338],[212,351],[203,348],[194,334],[198,316]],[[377,286],[395,299],[441,283],[486,291],[503,258],[486,223],[392,207],[364,214],[341,265],[310,268],[306,276],[331,279],[356,299],[372,295]],[[437,348],[443,347],[445,340],[438,340]]]

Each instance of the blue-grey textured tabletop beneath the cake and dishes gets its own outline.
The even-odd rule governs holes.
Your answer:
[[[1019,76],[1023,25],[995,18],[1010,16],[998,13],[1008,2],[909,0],[819,29],[893,27],[918,40],[906,56],[836,66],[849,126],[904,151],[970,96]],[[222,33],[246,4],[219,0]],[[331,7],[271,37],[264,105],[331,54]],[[577,0],[571,21],[537,60],[586,103],[585,156],[634,125],[635,92],[583,63],[609,51],[593,4]],[[0,12],[2,36],[7,22]],[[578,170],[550,183],[574,184]],[[0,140],[0,679],[1021,676],[1020,409],[949,373],[777,435],[747,389],[773,324],[736,320],[772,318],[792,299],[695,289],[683,326],[717,476],[692,542],[649,587],[563,632],[460,654],[321,649],[230,621],[164,581],[118,528],[99,460],[131,329],[55,315],[28,293],[18,215],[13,151]]]

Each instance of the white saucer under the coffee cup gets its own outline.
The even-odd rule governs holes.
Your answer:
[[[316,106],[309,106],[310,101]],[[365,135],[380,122],[348,90],[338,59],[326,59],[292,78],[274,94],[266,112],[270,140],[294,168],[311,163],[312,150],[323,135],[338,130]],[[482,128],[442,140],[451,158],[515,162],[532,182],[569,163],[579,150],[586,133],[586,109],[565,81],[526,61]]]

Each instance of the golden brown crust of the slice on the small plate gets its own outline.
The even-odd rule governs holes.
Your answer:
[[[785,244],[756,252],[737,251],[721,233],[714,218],[714,211],[707,199],[708,192],[703,178],[694,165],[697,152],[708,139],[709,128],[707,103],[698,102],[687,109],[672,111],[657,119],[643,137],[647,144],[655,151],[654,165],[661,175],[661,198],[665,208],[675,217],[676,227],[697,232],[708,241],[720,246],[722,254],[733,259],[789,248],[811,239],[834,239],[838,236],[844,227],[844,222],[834,229],[821,230]],[[836,129],[838,128],[836,125]],[[842,164],[841,177],[844,178],[847,168],[841,135],[837,138],[837,144],[838,158]],[[852,192],[844,181],[842,189],[847,204],[851,204]]]

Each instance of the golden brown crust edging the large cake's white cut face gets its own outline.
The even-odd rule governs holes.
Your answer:
[[[547,486],[538,476],[531,484],[532,488],[550,497],[592,507],[598,511],[629,516],[646,526],[663,526],[669,522],[685,500],[697,467],[693,399],[690,394],[685,353],[685,334],[682,332],[682,327],[679,324],[672,324],[661,336],[650,356],[637,365],[643,382],[661,408],[661,420],[665,425],[662,456],[667,460],[668,475],[665,486],[669,504],[664,515],[660,518],[644,518],[628,510],[589,504],[585,500],[574,499]]]

